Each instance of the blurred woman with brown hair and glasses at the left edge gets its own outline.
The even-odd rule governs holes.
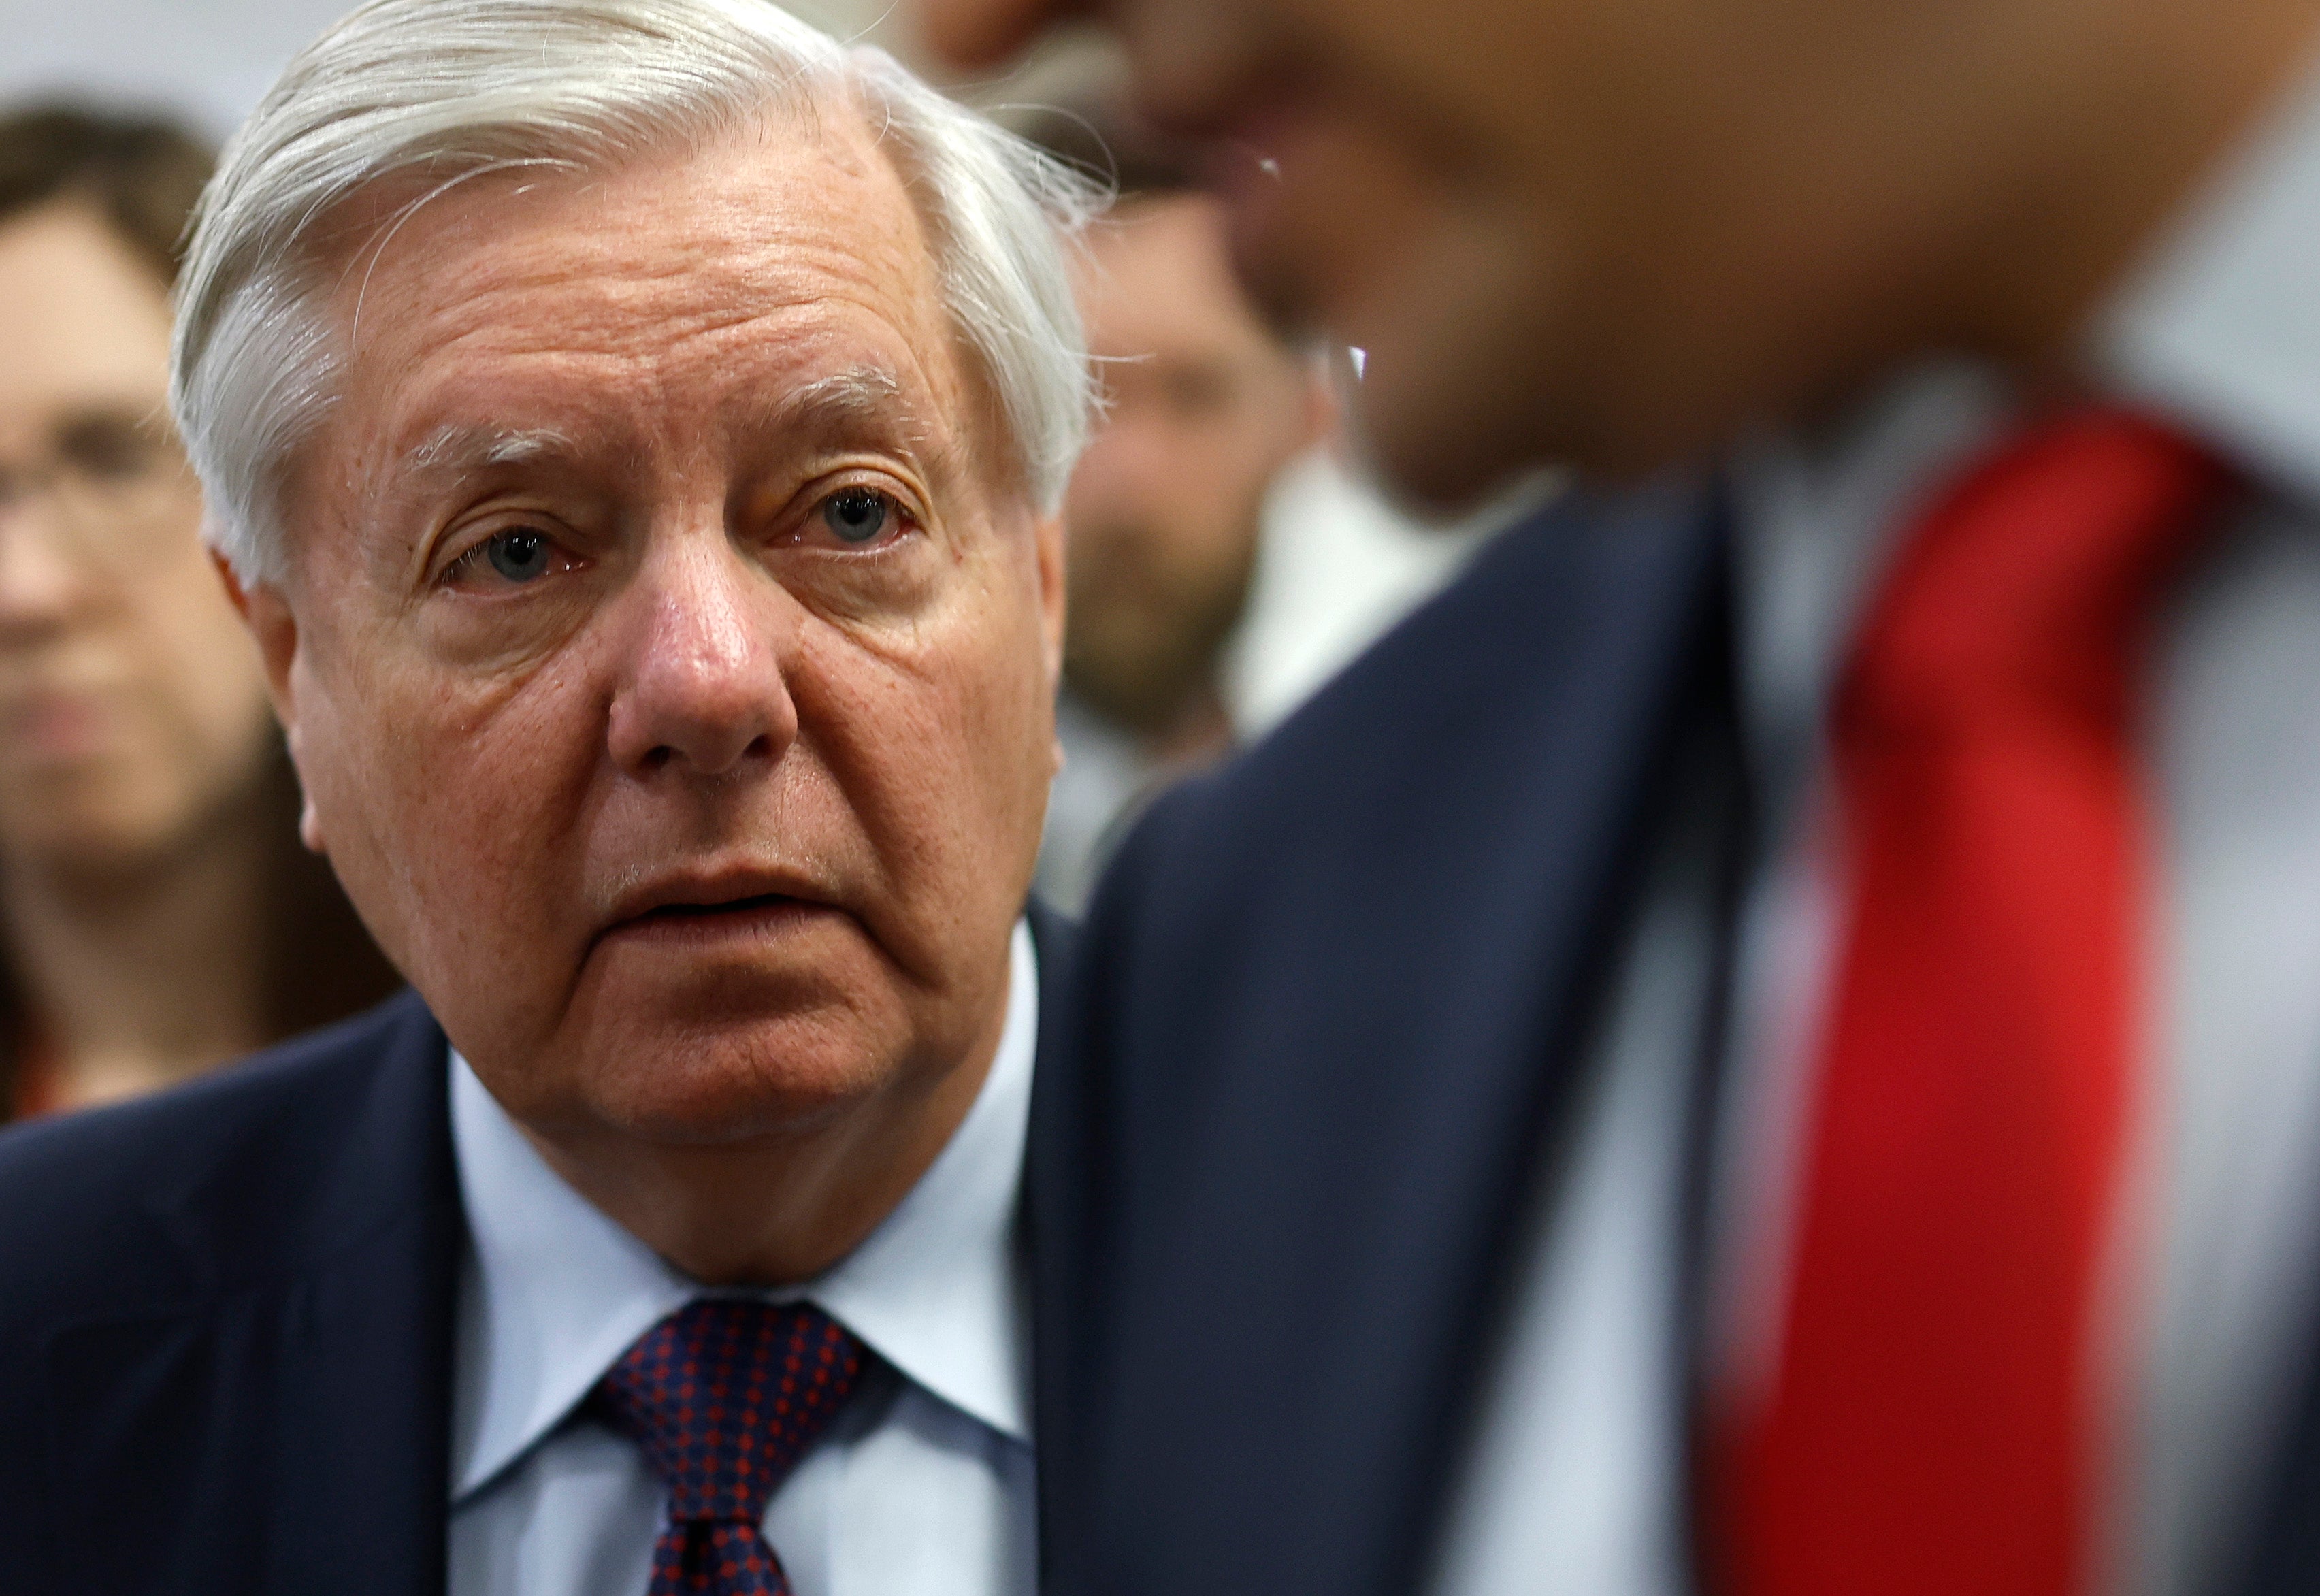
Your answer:
[[[167,420],[209,167],[162,123],[0,116],[0,1118],[169,1086],[397,984],[297,842]]]

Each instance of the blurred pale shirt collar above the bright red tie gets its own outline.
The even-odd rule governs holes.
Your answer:
[[[2320,63],[2107,302],[2097,392],[2183,427],[2267,487],[2320,499]],[[1840,425],[1733,459],[1742,705],[1775,800],[1812,768],[1828,689],[1900,529],[2011,413],[2000,373],[1928,362]]]

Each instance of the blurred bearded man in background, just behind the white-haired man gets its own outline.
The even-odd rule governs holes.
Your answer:
[[[1079,262],[1109,404],[1063,501],[1063,770],[1039,844],[1039,891],[1076,914],[1144,803],[1232,749],[1225,647],[1267,494],[1332,406],[1315,362],[1234,281],[1195,151],[1104,107],[1025,132],[1118,190]]]

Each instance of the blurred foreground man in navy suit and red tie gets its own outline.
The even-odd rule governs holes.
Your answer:
[[[1063,1584],[2320,1589],[2320,2],[1058,12],[1589,478],[1097,893]]]

